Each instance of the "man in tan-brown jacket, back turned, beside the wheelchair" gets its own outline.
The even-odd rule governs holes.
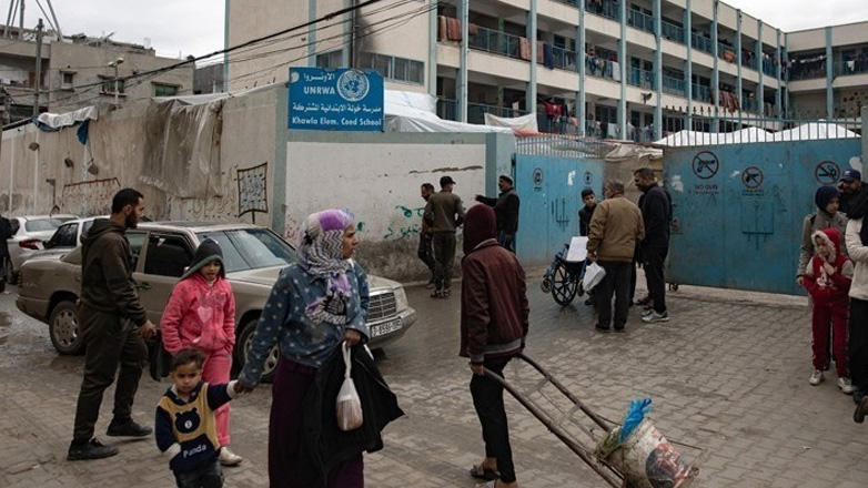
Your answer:
[[[608,180],[603,186],[606,200],[597,204],[591,218],[588,258],[597,262],[606,275],[594,288],[599,314],[597,331],[609,332],[612,295],[615,294],[615,332],[624,332],[629,311],[630,268],[636,243],[645,237],[639,207],[624,197],[624,183]]]

